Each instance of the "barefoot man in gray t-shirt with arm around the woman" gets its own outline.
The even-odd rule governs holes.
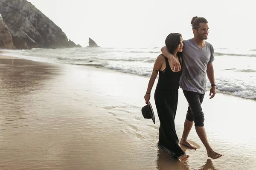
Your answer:
[[[212,65],[214,60],[213,47],[209,42],[205,41],[208,36],[208,21],[203,17],[193,17],[191,24],[194,38],[183,42],[183,74],[180,78],[180,88],[183,89],[183,94],[189,103],[189,107],[180,144],[196,149],[194,145],[187,141],[189,132],[195,122],[196,132],[207,149],[208,157],[218,159],[222,155],[213,151],[209,145],[204,129],[204,113],[201,108],[206,92],[206,75],[212,85],[210,99],[216,94]],[[172,70],[180,71],[180,63],[176,62],[177,60],[167,51],[166,46],[161,51],[164,56],[170,59]]]

